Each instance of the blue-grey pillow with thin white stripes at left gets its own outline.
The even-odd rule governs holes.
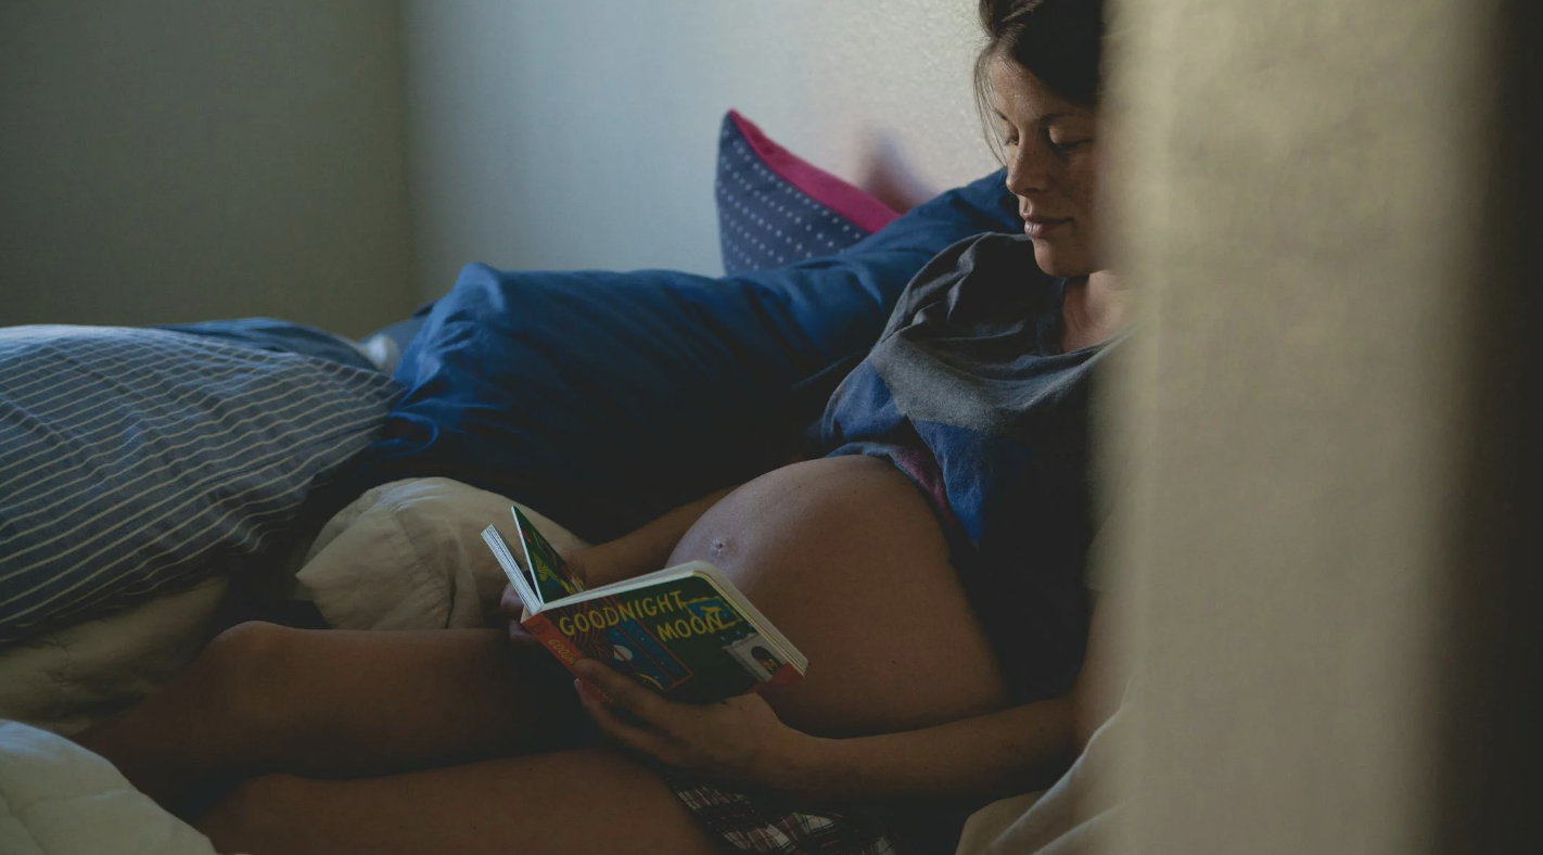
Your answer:
[[[262,557],[397,394],[177,332],[0,329],[0,642]]]

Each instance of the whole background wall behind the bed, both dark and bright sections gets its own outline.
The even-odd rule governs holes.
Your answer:
[[[727,108],[909,205],[994,168],[975,40],[952,0],[3,3],[0,323],[358,333],[469,261],[714,273]]]

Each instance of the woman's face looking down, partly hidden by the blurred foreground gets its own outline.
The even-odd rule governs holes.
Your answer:
[[[1015,62],[992,63],[1008,190],[1018,198],[1034,259],[1051,276],[1088,276],[1099,262],[1094,218],[1097,116],[1046,90]]]

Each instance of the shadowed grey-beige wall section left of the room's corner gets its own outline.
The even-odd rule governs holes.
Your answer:
[[[412,306],[400,8],[0,3],[0,324]]]

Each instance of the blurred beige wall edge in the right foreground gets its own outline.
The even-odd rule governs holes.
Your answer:
[[[1128,850],[1538,852],[1535,3],[1120,6]]]

